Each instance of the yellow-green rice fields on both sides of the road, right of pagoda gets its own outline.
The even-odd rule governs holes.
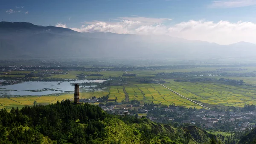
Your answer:
[[[232,86],[215,82],[174,82],[172,79],[166,81],[170,82],[164,84],[166,87],[207,107],[243,107],[244,103],[256,104],[256,87],[254,86]],[[133,83],[111,87],[110,99],[117,97],[118,102],[125,100],[123,88],[125,88],[129,100],[137,99],[146,103],[201,108],[198,104],[184,99],[158,84]]]

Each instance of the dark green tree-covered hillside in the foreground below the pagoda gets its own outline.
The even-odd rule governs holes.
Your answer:
[[[174,128],[146,118],[116,116],[69,100],[0,111],[0,141],[5,144],[216,144],[198,127]]]

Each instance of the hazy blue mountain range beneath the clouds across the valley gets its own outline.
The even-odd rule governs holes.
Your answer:
[[[255,56],[256,45],[189,41],[165,35],[79,33],[68,28],[0,22],[1,58],[212,59]]]

